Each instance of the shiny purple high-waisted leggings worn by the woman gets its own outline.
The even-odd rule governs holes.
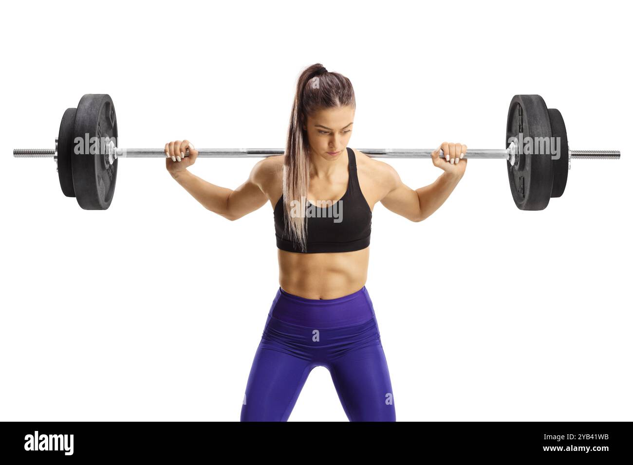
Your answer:
[[[396,421],[387,359],[365,286],[337,299],[277,290],[240,420],[287,421],[316,366],[329,370],[349,421]]]

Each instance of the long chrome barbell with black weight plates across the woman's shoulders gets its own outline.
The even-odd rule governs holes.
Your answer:
[[[15,149],[16,158],[54,158],[61,191],[87,210],[110,207],[120,158],[165,158],[165,149],[116,147],[115,106],[108,94],[85,94],[77,108],[66,109],[54,149]],[[434,149],[359,149],[372,158],[426,158]],[[284,149],[198,149],[202,158],[267,157]],[[510,102],[505,149],[468,149],[465,158],[505,159],[510,190],[522,210],[542,210],[567,185],[572,158],[619,159],[620,151],[568,147],[560,111],[538,95],[517,95]]]

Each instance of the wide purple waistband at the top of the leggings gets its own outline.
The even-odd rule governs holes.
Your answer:
[[[285,323],[308,328],[359,325],[375,316],[372,299],[365,286],[336,299],[306,299],[279,287],[268,314]]]

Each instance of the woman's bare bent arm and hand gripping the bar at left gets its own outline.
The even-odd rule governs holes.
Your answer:
[[[189,149],[189,156],[184,153]],[[261,189],[265,170],[265,160],[255,164],[248,180],[235,190],[220,187],[187,171],[196,163],[197,150],[188,140],[176,140],[165,144],[166,168],[172,178],[200,202],[204,208],[217,213],[227,220],[237,220],[255,211],[268,201]],[[175,160],[175,161],[174,161]]]

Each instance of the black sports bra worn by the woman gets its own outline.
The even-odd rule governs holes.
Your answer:
[[[348,190],[332,206],[319,208],[306,200],[306,218],[308,222],[306,248],[304,253],[351,252],[365,249],[369,245],[372,233],[372,209],[370,208],[358,184],[356,156],[348,152]],[[284,194],[275,205],[275,236],[277,248],[288,252],[302,252],[286,233]]]

